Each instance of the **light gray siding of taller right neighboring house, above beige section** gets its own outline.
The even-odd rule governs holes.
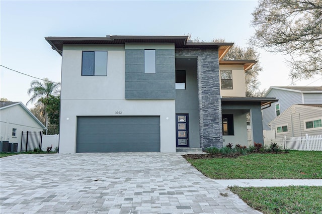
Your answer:
[[[263,129],[271,130],[268,124],[276,118],[275,115],[275,104],[280,103],[280,114],[289,108],[292,104],[302,104],[302,95],[299,92],[278,90],[273,88],[266,97],[276,97],[277,102],[263,110]]]

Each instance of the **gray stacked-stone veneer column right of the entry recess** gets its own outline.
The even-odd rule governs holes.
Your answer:
[[[222,148],[218,49],[176,49],[176,57],[197,57],[200,147]]]

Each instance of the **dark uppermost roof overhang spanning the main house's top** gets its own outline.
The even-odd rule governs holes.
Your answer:
[[[220,60],[233,45],[225,42],[187,42],[188,36],[45,37],[45,39],[60,55],[64,44],[174,43],[176,48],[216,48]]]

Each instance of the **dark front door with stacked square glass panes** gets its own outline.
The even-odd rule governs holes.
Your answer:
[[[177,147],[189,147],[189,115],[176,114]]]

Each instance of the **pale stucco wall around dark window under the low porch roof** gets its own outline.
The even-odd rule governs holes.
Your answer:
[[[239,144],[248,147],[247,141],[247,123],[246,115],[247,112],[243,110],[223,110],[222,114],[232,114],[233,115],[233,128],[234,135],[223,135],[223,147],[228,143],[233,145]]]

